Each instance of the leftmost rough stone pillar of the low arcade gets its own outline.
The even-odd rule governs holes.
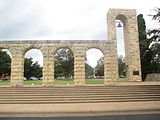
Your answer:
[[[20,46],[12,49],[11,87],[23,86],[24,57],[22,51],[18,49],[19,47]]]

